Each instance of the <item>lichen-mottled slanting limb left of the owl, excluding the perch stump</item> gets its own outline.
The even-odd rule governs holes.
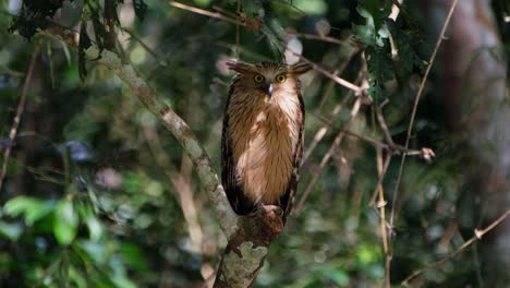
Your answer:
[[[63,40],[68,45],[77,48],[76,33],[57,23],[48,22],[47,29],[40,33]],[[230,207],[223,187],[219,181],[218,173],[209,156],[186,122],[158,98],[157,94],[138,75],[133,65],[123,62],[116,52],[106,49],[100,50],[94,44],[85,52],[87,59],[97,60],[97,62],[106,65],[130,86],[135,96],[179,141],[197,170],[198,178],[204,184],[207,196],[216,211],[221,230],[227,236],[227,239],[230,239],[238,230],[239,217]]]

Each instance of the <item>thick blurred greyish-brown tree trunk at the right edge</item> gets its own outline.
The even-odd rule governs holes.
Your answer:
[[[445,14],[451,1],[425,2]],[[471,237],[475,228],[510,208],[507,61],[488,0],[459,1],[448,37],[441,59],[444,103],[465,167],[459,169],[465,179],[458,202],[459,226],[464,237]],[[510,281],[509,239],[507,220],[482,240],[482,275],[488,287]]]

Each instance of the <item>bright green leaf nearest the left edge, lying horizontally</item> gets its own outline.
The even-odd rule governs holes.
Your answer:
[[[53,201],[42,201],[28,196],[17,196],[11,199],[3,209],[9,216],[24,216],[25,224],[34,225],[35,221],[48,215],[54,207]]]

